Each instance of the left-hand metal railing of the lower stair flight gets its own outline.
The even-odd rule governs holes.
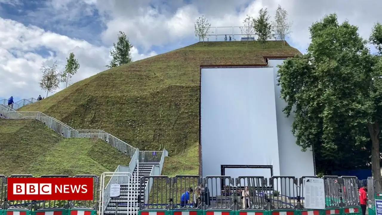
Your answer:
[[[111,200],[111,197],[110,197],[111,185],[112,184],[122,184],[122,183],[126,183],[126,181],[128,181],[125,178],[126,176],[118,176],[118,173],[131,173],[131,174],[133,174],[135,166],[137,165],[138,156],[139,156],[139,149],[137,148],[134,152],[133,157],[131,157],[131,160],[129,162],[129,166],[118,165],[117,169],[115,169],[114,172],[116,173],[116,175],[115,176],[113,175],[112,178],[110,178],[110,181],[107,183],[104,191],[102,191],[102,193],[104,195],[104,200],[105,200],[103,210],[106,209],[107,205],[110,203],[110,200]],[[112,182],[112,183],[110,183],[110,182]],[[129,183],[138,184],[138,174],[133,175],[133,178],[129,180]]]

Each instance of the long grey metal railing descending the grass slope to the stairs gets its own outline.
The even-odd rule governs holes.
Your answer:
[[[42,112],[15,111],[5,105],[1,105],[0,111],[6,119],[37,119],[66,138],[100,138],[129,157],[132,157],[136,151],[135,147],[103,130],[76,130]]]

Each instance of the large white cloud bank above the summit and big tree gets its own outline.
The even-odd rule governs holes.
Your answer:
[[[247,14],[256,17],[262,7],[273,16],[278,4],[288,11],[289,19],[293,21],[291,41],[300,50],[309,44],[309,26],[329,13],[337,13],[339,21],[348,19],[351,24],[359,26],[359,33],[364,37],[369,36],[376,21],[382,20],[379,13],[382,2],[379,0],[237,0],[224,4],[219,0],[194,0],[191,5],[170,8],[173,11],[154,9],[148,2],[157,0],[146,0],[135,3],[133,13],[123,11],[130,1],[104,2],[98,0],[95,3],[99,10],[108,11],[111,17],[105,20],[107,29],[102,34],[103,41],[110,44],[118,31],[125,31],[131,41],[147,49],[184,37],[194,38],[193,23],[198,16],[205,15],[212,26],[241,26]],[[244,7],[246,3],[248,7]]]

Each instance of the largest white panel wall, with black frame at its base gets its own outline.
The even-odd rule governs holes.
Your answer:
[[[202,68],[201,147],[202,176],[219,176],[220,165],[272,165],[280,175],[273,68]]]

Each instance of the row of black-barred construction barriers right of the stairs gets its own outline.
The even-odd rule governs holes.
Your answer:
[[[322,191],[306,191],[325,194],[325,209],[320,210],[304,207],[304,178],[317,177],[144,176],[139,215],[362,214],[356,177],[324,176]]]

